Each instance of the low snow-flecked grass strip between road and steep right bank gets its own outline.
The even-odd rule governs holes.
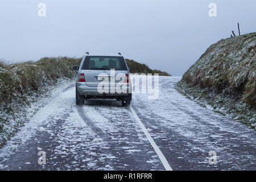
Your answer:
[[[208,88],[191,87],[185,82],[178,82],[176,89],[197,104],[255,129],[256,110],[245,102],[234,100],[232,96],[227,97],[225,94],[214,93]]]

